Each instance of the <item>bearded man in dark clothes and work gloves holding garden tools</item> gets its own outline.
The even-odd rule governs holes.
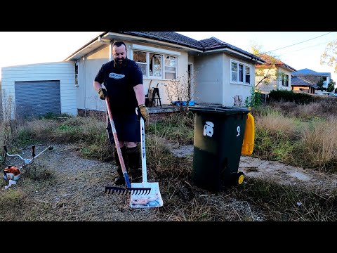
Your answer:
[[[126,169],[131,171],[131,180],[139,181],[142,171],[140,168],[140,120],[136,115],[140,113],[144,121],[147,120],[145,107],[145,93],[143,89],[143,73],[133,60],[126,56],[126,45],[123,41],[115,41],[112,45],[113,60],[102,65],[96,75],[93,88],[98,91],[100,99],[108,96],[110,110],[116,128],[119,146]],[[105,89],[102,87],[104,83]],[[107,136],[114,145],[114,136],[110,119],[107,114]],[[124,176],[114,145],[114,160],[117,164],[118,176],[114,179],[117,185],[123,184]]]

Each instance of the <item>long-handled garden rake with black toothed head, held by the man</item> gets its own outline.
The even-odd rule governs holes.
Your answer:
[[[119,158],[119,163],[121,164],[121,171],[126,183],[126,188],[119,186],[105,186],[105,193],[117,193],[124,195],[148,195],[150,194],[151,188],[131,188],[130,180],[128,179],[128,172],[126,171],[123,155],[121,155],[121,147],[119,146],[119,141],[117,137],[116,127],[114,126],[114,120],[112,119],[112,113],[110,110],[109,98],[105,97],[105,103],[107,104],[107,114],[109,115],[110,124],[112,128],[112,134],[114,136],[114,145],[116,145],[117,154]]]

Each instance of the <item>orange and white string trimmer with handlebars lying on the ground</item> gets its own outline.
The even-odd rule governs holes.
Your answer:
[[[7,147],[6,145],[4,145],[4,161],[6,160],[6,156],[8,157],[19,157],[22,161],[23,164],[21,167],[16,167],[13,165],[9,165],[8,167],[6,167],[4,169],[4,179],[6,181],[8,181],[8,186],[5,186],[5,189],[10,188],[12,185],[16,184],[16,181],[18,181],[18,179],[20,179],[21,176],[21,172],[22,169],[25,168],[27,165],[32,164],[34,162],[34,160],[41,155],[42,153],[44,153],[46,150],[53,150],[53,146],[48,146],[47,148],[45,148],[44,150],[42,150],[39,154],[35,155],[35,145],[32,145],[32,158],[23,158],[21,155],[11,155],[8,154],[7,152]]]

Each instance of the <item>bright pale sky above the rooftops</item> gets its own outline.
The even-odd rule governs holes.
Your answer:
[[[101,32],[0,32],[0,68],[65,60]],[[337,40],[337,32],[178,32],[192,39],[216,37],[245,51],[260,46],[296,70],[308,68],[330,72],[334,67],[320,65],[326,45]]]

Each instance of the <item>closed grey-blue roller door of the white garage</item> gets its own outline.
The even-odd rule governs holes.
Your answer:
[[[60,81],[15,82],[15,108],[20,118],[60,114]]]

